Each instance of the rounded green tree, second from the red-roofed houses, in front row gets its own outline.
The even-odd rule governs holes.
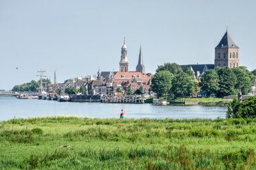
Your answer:
[[[195,79],[189,73],[182,72],[177,75],[172,80],[171,93],[175,97],[189,96],[195,93]]]

